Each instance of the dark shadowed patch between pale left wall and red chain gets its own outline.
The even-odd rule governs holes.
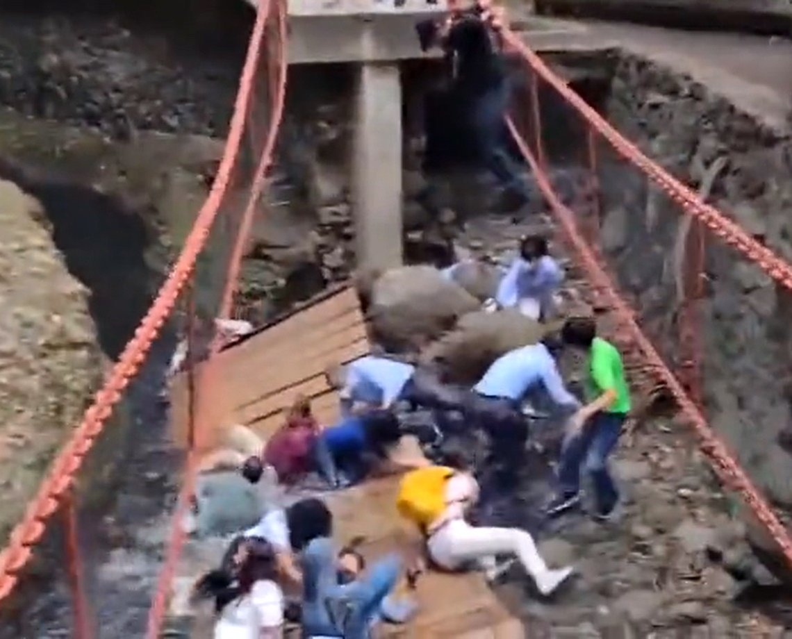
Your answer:
[[[69,272],[90,291],[99,345],[116,359],[148,310],[158,279],[144,259],[151,240],[145,223],[112,196],[57,176],[34,176],[2,159],[0,179],[43,205]]]

